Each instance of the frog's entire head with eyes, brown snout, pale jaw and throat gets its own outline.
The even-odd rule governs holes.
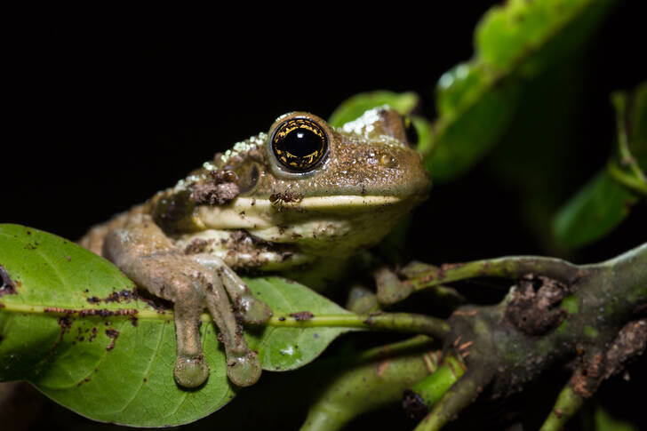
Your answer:
[[[207,166],[236,179],[238,195],[203,205],[198,217],[207,228],[242,228],[311,254],[372,245],[429,192],[414,136],[387,106],[339,128],[286,114]]]

